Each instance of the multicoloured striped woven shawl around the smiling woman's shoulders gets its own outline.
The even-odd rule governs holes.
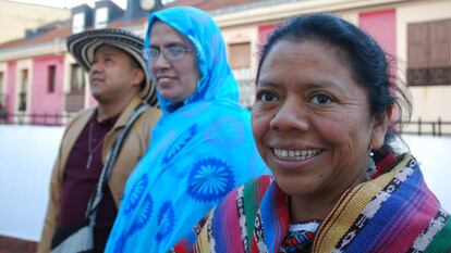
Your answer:
[[[278,252],[288,197],[270,176],[231,192],[210,215],[194,252]],[[391,172],[346,191],[319,227],[313,252],[451,252],[451,218],[405,154]],[[194,237],[175,252],[192,252]]]

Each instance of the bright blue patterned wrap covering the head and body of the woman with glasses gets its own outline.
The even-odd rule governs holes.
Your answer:
[[[194,8],[163,10],[149,16],[147,47],[157,20],[193,42],[203,77],[174,112],[158,96],[164,113],[129,178],[106,252],[164,252],[235,186],[269,173],[249,113],[237,105],[239,85],[218,26]]]

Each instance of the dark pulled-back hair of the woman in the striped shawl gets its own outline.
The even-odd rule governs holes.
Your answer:
[[[395,127],[400,127],[403,115],[410,119],[412,104],[407,90],[399,85],[397,77],[391,76],[388,58],[379,45],[365,31],[333,14],[319,13],[294,17],[277,27],[264,45],[258,63],[257,83],[268,53],[279,41],[287,40],[320,41],[334,46],[344,53],[354,79],[368,91],[371,115],[380,115],[390,105],[398,109],[397,118],[391,121],[385,144],[379,152],[393,150],[388,143],[397,136]]]

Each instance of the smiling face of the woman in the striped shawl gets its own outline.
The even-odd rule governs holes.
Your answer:
[[[319,41],[282,40],[261,65],[252,125],[258,151],[291,195],[330,198],[362,182],[386,119],[369,112],[345,58]]]

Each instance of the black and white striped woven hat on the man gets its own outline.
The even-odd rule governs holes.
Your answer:
[[[141,91],[142,98],[150,105],[156,105],[156,89],[146,72],[146,63],[142,56],[144,40],[141,37],[123,29],[94,29],[68,38],[69,52],[87,72],[93,65],[94,53],[102,45],[122,49],[139,63],[146,78],[145,87]]]

